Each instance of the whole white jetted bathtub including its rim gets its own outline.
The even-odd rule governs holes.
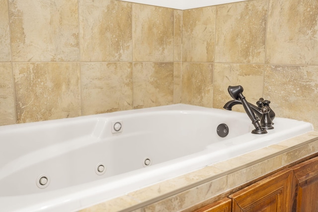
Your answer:
[[[122,132],[112,133],[118,121]],[[177,104],[2,126],[0,211],[77,211],[313,130],[306,122],[274,122],[268,134],[254,135],[244,113]],[[217,135],[222,123],[225,138]]]

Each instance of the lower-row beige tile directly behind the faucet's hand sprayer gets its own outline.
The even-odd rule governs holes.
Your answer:
[[[263,65],[249,64],[215,64],[213,81],[213,107],[222,109],[225,103],[232,100],[228,92],[229,85],[241,85],[243,95],[252,104],[263,94]],[[232,108],[243,112],[241,105]]]

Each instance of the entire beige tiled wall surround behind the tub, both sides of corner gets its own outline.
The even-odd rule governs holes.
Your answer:
[[[0,125],[180,102],[222,108],[240,84],[251,103],[264,97],[276,116],[318,127],[318,1],[0,5]]]

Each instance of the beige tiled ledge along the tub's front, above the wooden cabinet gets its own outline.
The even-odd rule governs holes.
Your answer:
[[[311,131],[83,208],[80,212],[187,212],[193,210],[194,205],[213,202],[225,192],[229,194],[247,182],[314,156],[318,156],[318,132]]]

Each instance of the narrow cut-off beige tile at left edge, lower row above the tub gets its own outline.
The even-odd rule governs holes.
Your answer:
[[[11,63],[0,63],[0,125],[15,124]]]

